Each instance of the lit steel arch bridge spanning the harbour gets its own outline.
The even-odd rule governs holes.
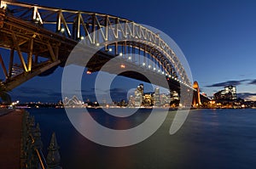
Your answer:
[[[109,14],[0,2],[0,62],[3,83],[9,89],[64,66],[73,48],[86,37],[89,46],[102,46],[84,65],[88,73],[101,70],[110,59],[119,56],[119,64],[165,76],[172,90],[192,90],[193,104],[208,100],[199,93],[197,83],[193,87],[179,56],[158,33],[143,25]],[[112,41],[120,37],[122,41]],[[1,54],[1,48],[9,49],[9,53]],[[126,71],[122,76],[148,82],[136,72]]]

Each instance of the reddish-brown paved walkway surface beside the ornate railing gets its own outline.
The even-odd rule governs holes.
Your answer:
[[[20,168],[22,111],[0,110],[0,168]]]

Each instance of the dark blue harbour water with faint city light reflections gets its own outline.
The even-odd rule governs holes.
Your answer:
[[[170,111],[166,121],[151,137],[140,144],[123,148],[102,146],[84,138],[72,126],[63,109],[28,111],[40,124],[44,154],[51,133],[56,133],[64,169],[256,167],[256,110],[190,110],[183,127],[174,135],[169,134],[169,129],[176,111]],[[113,120],[101,109],[89,111],[97,121],[111,127]],[[121,123],[136,126],[149,113],[150,110],[140,110]]]

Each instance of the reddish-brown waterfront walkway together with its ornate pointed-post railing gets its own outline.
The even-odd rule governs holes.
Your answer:
[[[48,155],[42,151],[39,124],[26,110],[0,110],[0,168],[61,169],[61,155],[55,133],[49,142]]]

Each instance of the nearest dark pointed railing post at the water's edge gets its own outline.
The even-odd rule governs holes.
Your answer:
[[[61,155],[59,153],[59,146],[55,137],[55,132],[52,133],[50,143],[49,143],[49,153],[46,158],[48,169],[62,169],[60,166]]]

